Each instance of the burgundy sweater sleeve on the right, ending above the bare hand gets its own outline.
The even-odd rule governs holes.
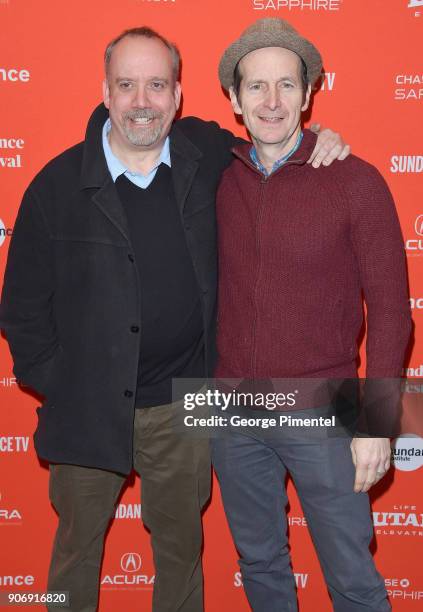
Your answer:
[[[367,310],[366,380],[358,435],[400,431],[400,376],[410,340],[404,241],[389,188],[363,163],[350,185],[352,242]]]

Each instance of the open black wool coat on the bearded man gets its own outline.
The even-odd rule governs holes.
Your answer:
[[[124,209],[102,148],[103,105],[85,141],[28,187],[0,310],[17,380],[45,397],[34,436],[50,462],[132,468],[140,292]],[[189,117],[170,133],[171,174],[202,297],[206,372],[215,360],[215,195],[234,136]]]

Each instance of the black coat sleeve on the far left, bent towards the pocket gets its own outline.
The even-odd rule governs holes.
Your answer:
[[[10,243],[0,326],[6,333],[14,374],[23,385],[45,395],[58,354],[53,319],[52,241],[31,187],[26,191]]]

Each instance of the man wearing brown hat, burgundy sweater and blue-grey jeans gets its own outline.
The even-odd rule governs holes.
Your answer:
[[[218,192],[218,379],[354,380],[362,294],[366,376],[401,374],[410,312],[391,194],[357,157],[316,172],[306,163],[315,136],[301,113],[321,68],[314,45],[281,19],[257,21],[220,62],[252,144],[233,149]],[[300,398],[295,414],[324,413],[317,397]],[[390,609],[369,552],[367,495],[389,468],[388,438],[333,435],[327,425],[273,436],[237,427],[213,441],[213,462],[254,612],[297,610],[287,472],[334,609]]]

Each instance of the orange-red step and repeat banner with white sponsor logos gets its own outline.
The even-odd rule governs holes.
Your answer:
[[[262,17],[288,19],[319,48],[325,76],[312,120],[340,132],[354,153],[375,164],[397,203],[415,323],[402,430],[413,435],[393,440],[391,470],[372,490],[373,552],[394,610],[417,612],[423,602],[423,0],[0,0],[0,276],[26,186],[49,159],[83,138],[101,99],[111,38],[148,25],[175,41],[183,57],[182,114],[245,135],[217,65],[222,50]],[[41,592],[57,517],[47,466],[34,452],[37,400],[17,386],[3,337],[0,405],[0,592]],[[288,491],[300,608],[330,610],[291,483]],[[101,612],[150,609],[154,568],[141,516],[133,476],[107,536]],[[204,532],[206,610],[248,610],[216,481]]]

